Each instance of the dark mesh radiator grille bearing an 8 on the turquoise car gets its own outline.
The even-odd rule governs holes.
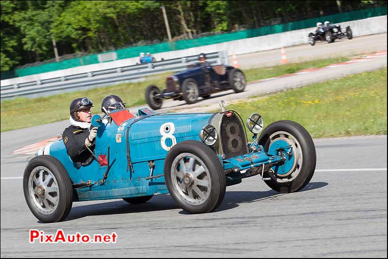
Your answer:
[[[221,141],[226,158],[248,153],[248,145],[242,121],[233,113],[230,117],[224,114],[221,122]]]

